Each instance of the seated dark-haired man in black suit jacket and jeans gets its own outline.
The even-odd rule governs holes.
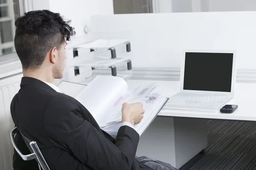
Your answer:
[[[141,103],[123,104],[122,125],[114,140],[100,129],[76,99],[53,85],[63,77],[65,46],[75,34],[69,22],[51,11],[31,11],[15,22],[15,48],[23,66],[20,91],[11,103],[12,119],[24,136],[36,141],[51,170],[173,170],[160,161],[135,159],[143,118]],[[20,134],[18,147],[29,153]],[[143,163],[144,162],[144,163]],[[35,160],[14,154],[14,170],[36,170]]]

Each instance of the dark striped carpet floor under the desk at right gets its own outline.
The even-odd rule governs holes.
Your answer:
[[[210,120],[204,154],[180,170],[256,170],[256,122]]]

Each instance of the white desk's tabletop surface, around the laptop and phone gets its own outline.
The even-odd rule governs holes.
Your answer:
[[[147,82],[157,82],[158,89],[165,94],[166,97],[173,96],[179,92],[180,82],[178,81],[146,81],[146,80],[129,80],[128,85],[143,84]],[[238,105],[238,109],[232,113],[221,112],[201,112],[201,111],[181,111],[172,109],[163,109],[158,116],[173,117],[192,117],[205,119],[227,119],[227,120],[244,120],[256,121],[256,113],[250,106],[256,105],[256,84],[255,83],[236,83],[235,96],[229,104]]]

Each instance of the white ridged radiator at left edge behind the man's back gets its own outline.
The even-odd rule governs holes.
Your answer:
[[[14,128],[10,113],[12,98],[20,89],[22,75],[0,79],[0,170],[12,170],[13,146],[10,132]]]

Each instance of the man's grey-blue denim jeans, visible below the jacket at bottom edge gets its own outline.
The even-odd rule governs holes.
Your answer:
[[[154,170],[178,170],[170,164],[167,164],[167,163],[162,162],[162,161],[157,161],[157,160],[154,160],[154,159],[150,159],[146,156],[140,156],[140,157],[135,156],[135,158],[138,161],[140,161],[141,163],[151,167]]]

